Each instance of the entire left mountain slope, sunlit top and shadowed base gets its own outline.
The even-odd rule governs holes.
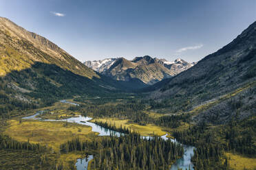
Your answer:
[[[50,40],[0,17],[0,116],[74,95],[112,93],[119,85]]]

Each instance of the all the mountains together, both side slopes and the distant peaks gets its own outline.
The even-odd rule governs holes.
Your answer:
[[[95,97],[138,88],[151,110],[188,112],[193,121],[224,123],[234,115],[242,119],[256,112],[256,22],[197,64],[150,56],[85,64],[0,17],[0,113],[75,95]]]

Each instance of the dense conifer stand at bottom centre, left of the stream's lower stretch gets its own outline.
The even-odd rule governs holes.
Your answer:
[[[75,138],[61,145],[61,153],[91,149],[96,152],[92,169],[168,169],[184,154],[182,145],[158,136],[145,140],[136,132],[84,142]]]

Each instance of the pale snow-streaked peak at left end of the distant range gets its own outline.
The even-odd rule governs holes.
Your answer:
[[[117,58],[106,58],[104,60],[86,61],[83,64],[85,64],[91,69],[94,69],[94,71],[98,71],[99,73],[102,73],[103,71],[106,71],[107,69],[109,69],[109,67],[112,64],[114,64],[116,60]]]

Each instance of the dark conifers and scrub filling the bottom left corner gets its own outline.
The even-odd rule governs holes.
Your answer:
[[[56,163],[56,154],[52,154],[50,148],[30,143],[29,140],[19,142],[3,134],[0,134],[0,157],[4,159],[0,160],[3,163],[0,169],[17,167],[17,163],[21,164],[17,169],[63,169]],[[6,163],[13,164],[13,167],[8,167]]]

